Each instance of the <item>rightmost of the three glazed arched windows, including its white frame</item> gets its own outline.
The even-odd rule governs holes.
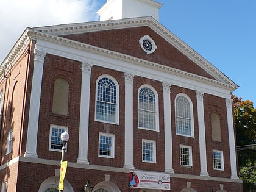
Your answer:
[[[194,137],[193,105],[186,94],[175,99],[176,134]]]

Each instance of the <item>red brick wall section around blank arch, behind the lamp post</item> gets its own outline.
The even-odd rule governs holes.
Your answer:
[[[68,115],[52,113],[54,82],[63,78],[69,83]],[[38,158],[60,160],[61,152],[49,151],[50,125],[68,127],[70,140],[66,160],[76,162],[78,158],[79,118],[82,71],[81,63],[47,54],[44,60],[43,81],[41,87],[40,116],[38,126]]]

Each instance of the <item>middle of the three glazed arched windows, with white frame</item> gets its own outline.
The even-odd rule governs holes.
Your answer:
[[[148,85],[138,90],[138,127],[158,130],[158,96]]]

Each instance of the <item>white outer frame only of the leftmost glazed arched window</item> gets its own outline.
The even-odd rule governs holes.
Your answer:
[[[98,83],[99,80],[101,80],[102,78],[108,78],[110,80],[112,80],[114,82],[114,84],[116,85],[116,111],[115,111],[115,122],[112,121],[104,121],[102,119],[97,119],[97,101],[98,101]],[[102,76],[99,76],[98,79],[96,80],[96,87],[95,87],[95,114],[94,114],[94,121],[100,121],[100,122],[104,122],[104,123],[110,123],[110,124],[119,124],[119,84],[116,81],[115,78],[113,78],[110,75],[104,74]]]

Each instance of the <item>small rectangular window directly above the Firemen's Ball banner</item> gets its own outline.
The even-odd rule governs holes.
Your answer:
[[[142,161],[155,163],[155,141],[142,141]]]

